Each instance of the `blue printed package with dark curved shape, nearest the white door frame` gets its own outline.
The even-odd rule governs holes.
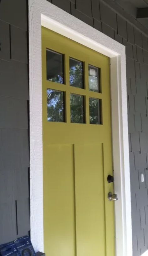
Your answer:
[[[21,256],[35,256],[35,251],[33,249],[29,236],[18,238],[14,241],[14,243]]]

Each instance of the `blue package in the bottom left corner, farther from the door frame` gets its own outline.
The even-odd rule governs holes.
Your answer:
[[[2,256],[21,256],[14,242],[8,243],[6,246],[3,245],[0,249],[0,253]]]

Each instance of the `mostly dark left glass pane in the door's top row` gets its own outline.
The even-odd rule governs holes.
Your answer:
[[[64,84],[64,55],[46,50],[47,80]]]

